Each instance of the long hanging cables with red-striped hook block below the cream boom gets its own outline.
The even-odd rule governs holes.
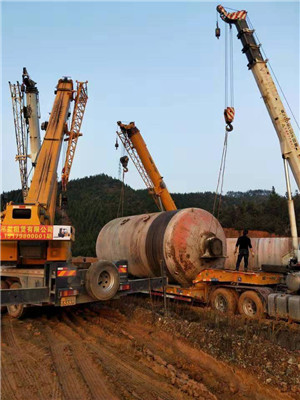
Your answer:
[[[229,42],[229,44],[228,44]],[[229,54],[228,54],[229,47]],[[230,104],[230,106],[228,106]],[[228,147],[228,134],[233,130],[231,122],[234,118],[234,85],[233,85],[233,35],[231,25],[229,28],[229,40],[228,40],[228,26],[225,26],[225,110],[224,117],[226,122],[225,127],[225,138],[223,144],[223,151],[220,163],[220,170],[218,176],[217,188],[215,191],[215,198],[213,204],[213,212],[215,215],[217,212],[217,219],[220,215],[221,203],[222,203],[222,194],[223,194],[223,186],[224,186],[224,177],[225,177],[225,167],[226,167],[226,156],[227,156],[227,147]],[[233,110],[233,114],[231,114],[231,119],[228,119],[228,115],[226,115],[227,110]],[[226,119],[227,117],[227,119]],[[231,122],[228,122],[230,121]]]

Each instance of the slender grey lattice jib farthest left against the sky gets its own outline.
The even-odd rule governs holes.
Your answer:
[[[15,135],[17,143],[16,161],[19,162],[21,187],[24,200],[28,194],[28,179],[27,179],[27,125],[24,117],[24,93],[21,90],[19,82],[12,84],[9,82],[12,109],[14,117]]]

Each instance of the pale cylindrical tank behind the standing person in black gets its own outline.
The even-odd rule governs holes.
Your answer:
[[[250,270],[259,270],[263,264],[287,265],[286,256],[292,250],[291,238],[251,238],[254,257],[249,255]],[[234,254],[237,238],[227,238],[226,269],[235,269],[237,255]],[[243,261],[241,263],[243,267]],[[242,268],[240,268],[242,270]]]

